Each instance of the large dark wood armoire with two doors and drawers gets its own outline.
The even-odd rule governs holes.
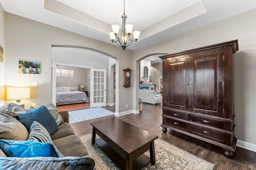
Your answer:
[[[233,156],[233,54],[238,40],[160,57],[163,60],[162,131],[167,128],[218,145]]]

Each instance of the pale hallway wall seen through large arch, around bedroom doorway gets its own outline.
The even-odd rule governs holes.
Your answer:
[[[90,69],[105,69],[107,72],[106,75],[106,105],[113,106],[116,101],[114,93],[114,72],[116,72],[116,57],[108,55],[102,51],[96,49],[90,49],[80,46],[71,46],[71,45],[52,45],[52,68],[74,68],[75,80],[72,82],[78,83],[81,88],[81,85],[84,89],[90,90]],[[55,66],[54,66],[55,65]],[[79,68],[79,69],[78,69]],[[118,69],[117,69],[118,70]],[[82,72],[82,73],[81,73]],[[52,98],[56,96],[56,74],[53,70],[52,74]],[[79,74],[79,76],[76,76]],[[116,87],[118,88],[118,86]],[[90,91],[88,98],[90,98]],[[54,101],[53,101],[54,102]]]

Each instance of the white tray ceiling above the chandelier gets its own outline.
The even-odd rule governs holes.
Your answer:
[[[122,25],[123,0],[0,0],[4,11],[106,43]],[[126,23],[140,31],[135,50],[256,8],[256,0],[126,0]]]

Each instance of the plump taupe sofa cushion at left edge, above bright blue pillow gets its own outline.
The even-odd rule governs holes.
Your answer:
[[[0,139],[26,141],[28,131],[15,118],[0,111]]]

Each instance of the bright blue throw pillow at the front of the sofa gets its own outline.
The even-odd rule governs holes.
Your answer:
[[[30,141],[9,141],[0,140],[0,149],[8,157],[63,157],[62,154],[56,152],[52,143],[41,143],[35,140]]]

